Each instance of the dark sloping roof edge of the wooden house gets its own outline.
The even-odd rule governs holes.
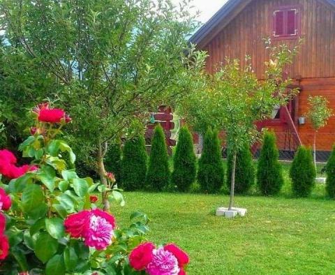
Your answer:
[[[219,31],[225,28],[228,23],[237,15],[241,10],[243,10],[248,3],[251,3],[253,0],[228,0],[225,5],[223,5],[220,10],[216,14],[211,17],[198,31],[191,36],[189,41],[193,44],[198,44],[198,46],[202,46],[202,41],[204,38],[209,37],[210,40]],[[329,3],[331,6],[335,8],[335,0],[319,0],[326,3]]]

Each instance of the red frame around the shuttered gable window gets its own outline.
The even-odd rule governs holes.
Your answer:
[[[297,31],[296,34],[287,34],[287,29],[288,29],[288,21],[287,21],[287,15],[289,10],[297,10],[297,16],[296,16],[296,26],[297,26]],[[275,36],[275,31],[276,31],[276,16],[275,13],[278,11],[283,11],[284,13],[284,22],[283,22],[283,31],[285,34],[280,35],[280,36]],[[301,35],[301,6],[299,5],[292,5],[292,6],[278,6],[275,7],[272,10],[271,13],[271,38],[274,40],[290,40],[290,39],[297,39]],[[286,22],[286,24],[285,24]]]

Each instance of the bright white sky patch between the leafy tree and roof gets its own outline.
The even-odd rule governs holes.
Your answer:
[[[182,0],[172,0],[174,3],[181,3]],[[198,20],[206,23],[228,0],[193,0],[193,6],[200,10]]]

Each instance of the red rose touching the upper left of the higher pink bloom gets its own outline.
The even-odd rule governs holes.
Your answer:
[[[73,238],[83,237],[89,216],[90,212],[88,210],[68,216],[64,221],[66,232],[70,233]]]

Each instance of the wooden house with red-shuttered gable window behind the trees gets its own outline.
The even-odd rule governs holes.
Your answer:
[[[305,118],[308,96],[325,96],[335,112],[335,0],[229,0],[192,37],[199,50],[208,52],[207,71],[213,73],[225,57],[246,54],[262,80],[269,59],[262,38],[274,45],[304,43],[288,67],[293,86],[300,90],[288,106],[274,110],[262,127],[273,128],[281,151],[295,151],[298,144],[313,143],[313,128]],[[317,137],[319,158],[335,142],[335,117]],[[325,154],[324,154],[325,155]],[[327,154],[326,154],[327,155]],[[327,156],[326,156],[327,157]]]

